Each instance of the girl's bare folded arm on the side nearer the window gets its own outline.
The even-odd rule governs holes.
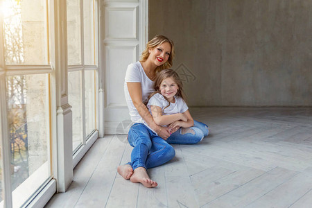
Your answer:
[[[150,111],[153,114],[153,119],[158,125],[168,125],[174,121],[182,120],[187,121],[187,114],[172,114],[172,115],[163,115],[162,108],[157,105],[151,105]]]

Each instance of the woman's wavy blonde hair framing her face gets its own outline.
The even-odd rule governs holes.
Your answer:
[[[156,35],[155,37],[153,37],[152,40],[150,40],[146,44],[146,49],[142,52],[142,55],[140,58],[140,62],[145,62],[148,59],[148,56],[150,55],[149,49],[155,49],[157,46],[159,46],[160,44],[163,44],[164,42],[168,42],[169,44],[171,44],[171,53],[169,54],[169,58],[166,61],[166,63],[162,64],[161,66],[155,69],[156,73],[158,73],[162,69],[169,69],[173,65],[173,58],[175,57],[175,46],[172,40],[170,40],[168,37],[164,35]]]

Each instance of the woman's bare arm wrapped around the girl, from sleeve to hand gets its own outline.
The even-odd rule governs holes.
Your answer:
[[[127,83],[127,86],[130,97],[132,99],[132,103],[133,105],[135,105],[135,108],[137,108],[137,111],[139,112],[142,119],[146,121],[150,128],[157,132],[157,135],[159,135],[159,137],[167,139],[170,136],[168,128],[157,125],[153,117],[150,115],[150,112],[148,111],[146,105],[144,105],[144,103],[142,102],[141,83]]]

